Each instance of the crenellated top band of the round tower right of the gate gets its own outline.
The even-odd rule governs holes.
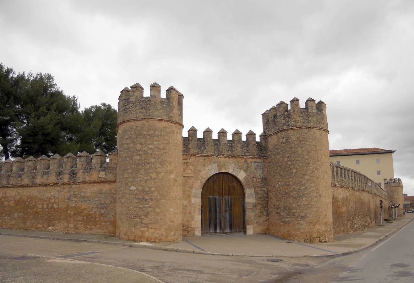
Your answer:
[[[299,99],[294,97],[290,101],[290,109],[286,102],[281,101],[262,114],[262,122],[266,136],[293,128],[318,128],[327,131],[326,104],[323,101],[315,103],[309,97],[305,108],[301,108]]]

